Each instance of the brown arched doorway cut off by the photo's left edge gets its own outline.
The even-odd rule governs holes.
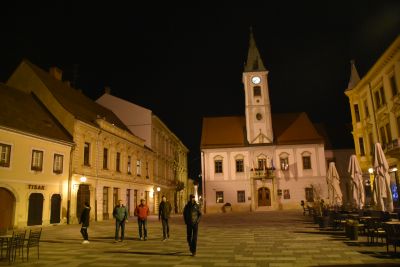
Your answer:
[[[14,224],[15,197],[7,189],[0,187],[0,230],[12,229]]]

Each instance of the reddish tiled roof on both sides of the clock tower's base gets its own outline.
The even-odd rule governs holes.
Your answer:
[[[276,145],[324,143],[324,139],[304,112],[273,114],[272,128]],[[201,148],[248,145],[244,116],[203,119]]]

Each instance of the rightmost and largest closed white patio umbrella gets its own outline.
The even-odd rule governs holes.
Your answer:
[[[393,199],[392,191],[390,190],[389,165],[379,143],[375,144],[374,171],[375,178],[372,194],[374,203],[378,210],[392,212]]]

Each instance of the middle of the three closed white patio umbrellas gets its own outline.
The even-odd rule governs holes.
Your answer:
[[[351,177],[351,191],[354,203],[358,209],[362,209],[365,205],[365,191],[362,170],[356,155],[351,155],[350,157],[348,172]]]

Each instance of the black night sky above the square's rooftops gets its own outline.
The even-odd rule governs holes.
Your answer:
[[[350,60],[365,75],[400,33],[400,1],[32,2],[0,4],[0,81],[27,58],[46,70],[60,67],[94,100],[110,86],[175,132],[191,151],[191,177],[199,173],[202,117],[244,115],[250,26],[269,70],[272,112],[307,112],[335,130],[336,147],[352,146],[343,93]]]

